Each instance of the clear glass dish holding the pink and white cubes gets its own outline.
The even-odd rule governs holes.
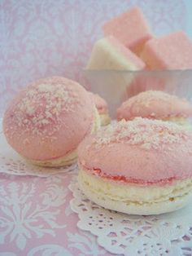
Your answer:
[[[111,117],[116,108],[143,90],[164,90],[192,103],[192,70],[116,71],[84,70],[89,90],[107,100]]]

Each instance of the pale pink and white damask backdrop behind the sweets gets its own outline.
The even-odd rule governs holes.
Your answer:
[[[103,22],[135,5],[156,35],[186,29],[185,0],[1,0],[0,115],[34,79],[63,75],[81,82]]]

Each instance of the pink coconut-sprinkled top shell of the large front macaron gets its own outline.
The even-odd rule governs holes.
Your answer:
[[[165,121],[119,121],[86,137],[78,155],[84,170],[129,183],[192,177],[192,133]]]

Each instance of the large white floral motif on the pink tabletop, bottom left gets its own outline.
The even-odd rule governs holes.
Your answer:
[[[50,183],[49,179],[47,181],[45,192],[40,192],[38,179],[30,184],[25,181],[1,186],[1,245],[9,237],[10,243],[23,250],[32,237],[55,236],[55,230],[66,227],[66,224],[57,223],[56,218],[61,213],[59,206],[65,203],[68,190],[57,183]]]

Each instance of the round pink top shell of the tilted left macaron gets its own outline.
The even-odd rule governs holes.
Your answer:
[[[31,160],[64,157],[94,124],[94,104],[77,82],[48,77],[21,90],[7,108],[3,130],[8,143]]]

